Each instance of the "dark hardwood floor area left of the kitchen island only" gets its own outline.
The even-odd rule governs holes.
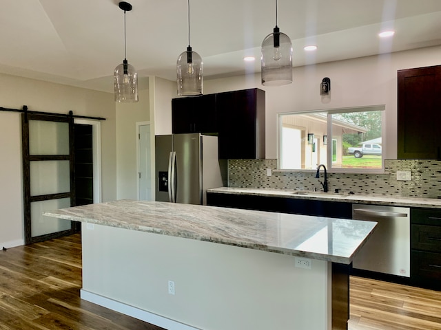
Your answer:
[[[0,329],[161,330],[79,298],[79,234],[0,250]]]

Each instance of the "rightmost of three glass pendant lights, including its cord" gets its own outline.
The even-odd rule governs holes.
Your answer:
[[[262,42],[262,85],[281,86],[292,83],[292,43],[289,36],[280,32],[277,26]]]

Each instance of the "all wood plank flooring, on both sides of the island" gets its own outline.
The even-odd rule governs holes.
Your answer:
[[[80,288],[79,234],[0,251],[0,329],[161,329],[81,300]],[[350,290],[349,330],[441,330],[441,292],[359,277]]]

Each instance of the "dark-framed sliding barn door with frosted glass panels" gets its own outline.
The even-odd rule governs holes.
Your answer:
[[[25,243],[74,232],[72,221],[42,212],[75,205],[73,118],[23,113]]]

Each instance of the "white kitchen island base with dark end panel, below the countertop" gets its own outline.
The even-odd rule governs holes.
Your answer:
[[[343,268],[334,276],[343,310],[334,301],[331,325],[329,261],[311,260],[308,270],[286,254],[82,225],[84,300],[168,330],[347,329],[349,265],[334,264]]]

